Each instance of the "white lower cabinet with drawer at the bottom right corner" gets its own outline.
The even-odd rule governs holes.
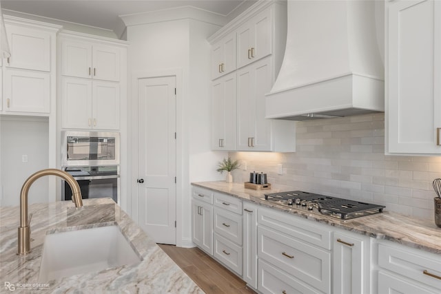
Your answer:
[[[441,255],[377,241],[378,293],[441,293]]]

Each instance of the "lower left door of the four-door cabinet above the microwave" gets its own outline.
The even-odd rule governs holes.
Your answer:
[[[92,127],[92,81],[63,76],[61,92],[63,128],[90,129]]]

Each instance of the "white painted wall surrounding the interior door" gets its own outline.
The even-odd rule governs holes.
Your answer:
[[[217,178],[213,162],[219,154],[210,151],[210,105],[209,105],[209,56],[207,37],[218,29],[200,21],[180,19],[127,27],[129,118],[128,129],[136,125],[136,103],[133,92],[136,76],[154,76],[178,73],[178,95],[176,96],[177,127],[177,176],[176,216],[178,246],[191,245],[190,182]],[[130,137],[132,136],[132,137]],[[129,142],[136,144],[136,133],[129,134]],[[132,146],[134,147],[134,146]],[[130,149],[130,148],[129,148]],[[132,149],[134,150],[134,149]],[[135,156],[132,152],[132,156]],[[133,160],[131,161],[133,162]],[[132,182],[136,170],[132,167]],[[131,197],[136,197],[136,186],[132,186]],[[134,211],[131,211],[133,216]]]

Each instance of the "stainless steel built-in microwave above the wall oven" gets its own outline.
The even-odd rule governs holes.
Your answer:
[[[63,167],[119,165],[118,132],[64,131],[61,134]]]

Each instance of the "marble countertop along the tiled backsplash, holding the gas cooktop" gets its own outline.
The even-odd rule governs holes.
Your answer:
[[[276,193],[280,191],[279,189],[245,189],[243,183],[228,183],[221,181],[193,182],[192,185],[226,193],[230,196],[255,202],[256,204],[265,207],[271,207],[273,209],[278,209],[279,211],[307,218],[308,220],[368,235],[372,238],[390,240],[416,249],[441,254],[441,228],[436,227],[434,222],[418,220],[399,213],[387,211],[387,207],[386,211],[383,213],[345,221],[329,216],[322,216],[319,213],[310,213],[309,211],[296,209],[295,207],[289,208],[274,202],[262,200],[262,198],[265,197],[265,193]]]

